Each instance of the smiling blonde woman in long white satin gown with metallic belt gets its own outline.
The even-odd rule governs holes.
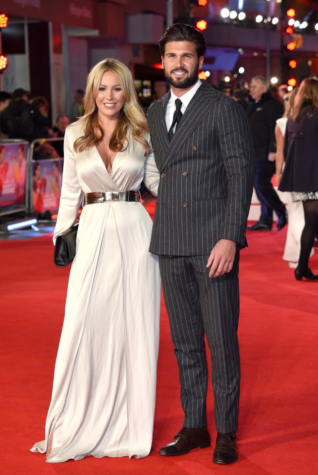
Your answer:
[[[74,223],[82,192],[88,204],[69,276],[45,440],[31,449],[47,453],[47,462],[139,458],[151,450],[160,277],[158,258],[148,251],[152,220],[136,198],[142,180],[157,195],[147,121],[129,69],[105,59],[88,76],[84,117],[67,127],[64,139],[54,242]]]

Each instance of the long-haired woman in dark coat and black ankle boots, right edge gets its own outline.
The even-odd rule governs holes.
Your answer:
[[[279,190],[292,191],[293,201],[304,207],[305,226],[301,236],[296,280],[317,280],[308,267],[315,237],[318,236],[318,81],[304,79],[287,121],[285,168]]]

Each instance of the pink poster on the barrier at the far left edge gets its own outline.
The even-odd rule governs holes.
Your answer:
[[[27,148],[26,143],[0,144],[0,212],[25,203]]]

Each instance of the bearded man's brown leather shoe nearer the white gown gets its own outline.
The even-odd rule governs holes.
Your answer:
[[[211,441],[208,429],[182,427],[175,435],[173,442],[159,450],[159,455],[183,455],[196,447],[204,449],[210,446]]]

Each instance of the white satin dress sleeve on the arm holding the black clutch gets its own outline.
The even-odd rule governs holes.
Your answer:
[[[73,144],[70,143],[68,130],[64,137],[64,165],[61,197],[57,214],[56,226],[53,234],[53,243],[59,234],[69,229],[77,218],[81,202],[82,188],[78,182]]]

